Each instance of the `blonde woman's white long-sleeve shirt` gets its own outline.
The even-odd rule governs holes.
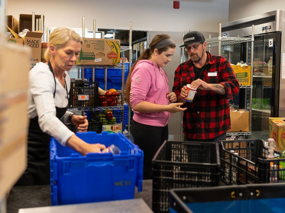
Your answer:
[[[70,90],[70,77],[65,71],[67,91]],[[34,118],[38,116],[40,129],[48,135],[54,137],[61,145],[65,146],[66,141],[74,135],[65,125],[68,116],[72,114],[66,111],[62,118],[56,117],[57,107],[66,107],[68,97],[66,89],[56,78],[56,93],[53,97],[55,84],[54,76],[47,64],[39,62],[29,72],[29,106],[28,116]]]

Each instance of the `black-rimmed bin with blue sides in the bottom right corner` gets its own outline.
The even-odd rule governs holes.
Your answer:
[[[284,212],[284,191],[284,183],[172,189],[170,212]]]

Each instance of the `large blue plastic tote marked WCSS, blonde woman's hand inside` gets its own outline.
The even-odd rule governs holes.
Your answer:
[[[82,156],[50,140],[50,188],[52,205],[133,199],[143,185],[143,151],[121,133],[76,133],[87,143],[114,144],[121,153],[89,153]]]

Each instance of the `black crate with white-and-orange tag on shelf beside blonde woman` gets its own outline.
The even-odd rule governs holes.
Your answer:
[[[71,82],[68,102],[70,108],[98,107],[98,82]]]

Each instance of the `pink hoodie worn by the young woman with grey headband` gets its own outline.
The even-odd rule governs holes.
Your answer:
[[[166,97],[169,91],[168,78],[164,70],[150,60],[140,60],[131,74],[130,103],[133,108],[142,101],[154,104],[168,105]],[[162,108],[162,106],[161,106]],[[133,119],[150,126],[166,126],[171,116],[170,112],[143,113],[136,112]]]

